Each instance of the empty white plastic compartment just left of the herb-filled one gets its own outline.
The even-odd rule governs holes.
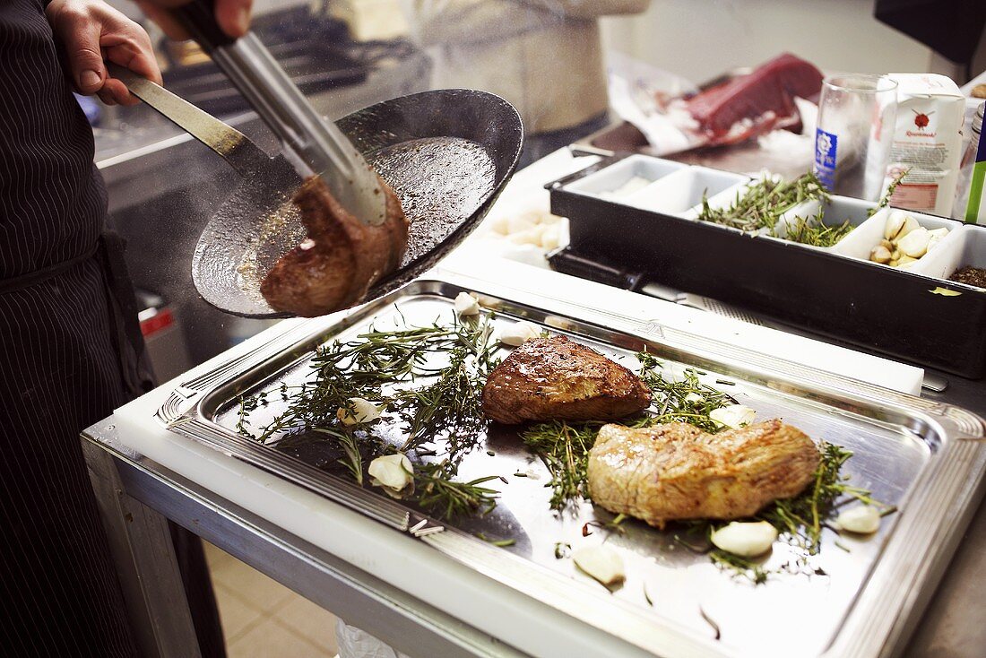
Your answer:
[[[653,212],[682,215],[702,202],[747,181],[745,176],[720,172],[705,167],[688,167],[634,192],[623,202],[626,205]]]

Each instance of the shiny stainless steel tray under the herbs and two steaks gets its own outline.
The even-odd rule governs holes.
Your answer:
[[[982,496],[986,445],[978,416],[657,322],[503,285],[456,280],[419,280],[343,317],[300,324],[183,384],[158,418],[179,434],[410,533],[489,578],[656,655],[874,656],[899,649]],[[853,483],[900,511],[884,519],[880,533],[869,539],[826,533],[811,566],[827,575],[786,574],[760,586],[732,578],[707,556],[682,548],[673,541],[673,531],[624,524],[624,534],[610,534],[606,541],[620,549],[627,580],[609,593],[579,573],[570,559],[556,558],[555,546],[598,543],[601,531],[584,538],[583,526],[611,515],[588,503],[577,514],[551,512],[546,472],[513,432],[491,432],[485,438],[495,454],[478,450],[462,462],[463,478],[504,475],[508,483],[495,487],[501,497],[494,513],[456,527],[237,434],[241,394],[274,389],[297,377],[319,344],[352,337],[375,320],[383,323],[397,313],[410,325],[443,316],[451,320],[452,300],[463,289],[478,292],[483,305],[496,310],[497,322],[523,318],[617,359],[646,345],[671,373],[699,369],[706,373],[703,381],[755,408],[759,419],[780,416],[815,440],[852,450],[847,471]],[[525,472],[533,476],[515,475]],[[478,532],[513,537],[517,544],[495,548],[474,537]],[[836,540],[848,550],[835,546]],[[767,566],[786,561],[785,552],[775,547]],[[720,627],[720,640],[703,612]]]

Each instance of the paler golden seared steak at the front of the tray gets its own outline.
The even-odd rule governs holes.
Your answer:
[[[672,422],[603,425],[589,452],[593,502],[663,528],[683,519],[740,519],[804,490],[818,450],[780,420],[707,434]]]

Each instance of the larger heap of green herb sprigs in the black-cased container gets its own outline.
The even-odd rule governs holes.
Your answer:
[[[774,235],[785,212],[805,201],[825,201],[828,197],[828,191],[814,174],[805,174],[794,181],[764,177],[746,184],[729,207],[713,208],[703,195],[698,219],[748,233]]]

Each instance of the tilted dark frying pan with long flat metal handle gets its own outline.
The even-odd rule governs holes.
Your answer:
[[[283,155],[268,157],[245,135],[171,92],[110,65],[131,93],[226,159],[240,183],[209,219],[191,262],[202,298],[244,318],[287,318],[260,294],[277,260],[305,239],[291,196],[302,183]],[[458,245],[513,175],[524,143],[521,117],[498,96],[439,90],[396,98],[336,121],[393,188],[410,221],[400,266],[367,294],[412,280]]]

